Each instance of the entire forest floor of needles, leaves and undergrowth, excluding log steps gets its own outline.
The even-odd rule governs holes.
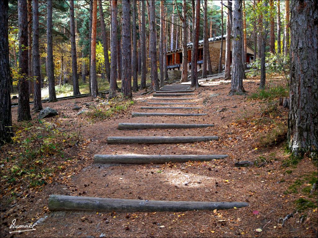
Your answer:
[[[244,80],[248,95],[258,91],[258,82],[258,76]],[[32,125],[17,123],[17,108],[13,108],[14,128],[21,132],[17,131],[16,143],[3,146],[1,153],[1,237],[317,237],[317,191],[310,195],[310,189],[317,181],[317,165],[306,157],[299,161],[286,152],[288,110],[277,105],[277,98],[262,100],[250,96],[228,96],[229,82],[201,84],[204,87],[187,97],[195,98],[189,102],[196,102],[203,108],[183,110],[208,114],[200,117],[132,118],[131,112],[150,111],[140,109],[152,97],[141,96],[142,91],[134,93],[134,103],[114,102],[111,104],[114,109],[103,103],[106,99],[92,100],[89,97],[44,103],[43,107],[57,109],[59,115],[43,120],[45,123],[34,119]],[[270,86],[283,84],[281,78],[274,77]],[[74,104],[85,109],[89,102],[92,104],[87,114],[77,115],[78,111],[72,110]],[[109,113],[103,113],[106,110]],[[176,112],[166,109],[151,111]],[[32,118],[37,115],[33,112]],[[117,130],[119,122],[211,123],[215,126]],[[31,126],[36,128],[25,130]],[[22,172],[18,166],[23,165],[17,164],[17,160],[21,155],[28,155],[25,148],[30,147],[27,147],[28,141],[21,141],[32,136],[32,131],[37,128],[46,131],[44,137],[51,144],[41,146],[36,155],[41,155],[41,149],[50,153]],[[56,134],[51,135],[48,131]],[[107,136],[211,135],[219,136],[219,140],[180,144],[107,144]],[[52,144],[54,147],[59,145],[60,149],[52,149]],[[94,154],[228,154],[229,157],[211,162],[159,165],[94,164]],[[254,162],[254,165],[234,166],[235,162],[245,160]],[[16,179],[13,180],[13,176]],[[50,212],[47,206],[51,194],[238,201],[249,202],[250,206],[217,211],[130,214]],[[293,216],[282,226],[285,216],[291,213]],[[9,228],[13,219],[19,225],[40,221],[36,230],[9,234],[13,230]]]

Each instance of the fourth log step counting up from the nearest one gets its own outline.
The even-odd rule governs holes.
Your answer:
[[[148,128],[204,128],[213,124],[179,124],[179,123],[118,123],[118,129],[148,129]]]

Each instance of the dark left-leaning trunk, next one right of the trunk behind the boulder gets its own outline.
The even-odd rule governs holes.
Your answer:
[[[75,23],[74,23],[74,0],[70,0],[70,31],[71,31],[71,51],[72,51],[72,73],[73,73],[73,95],[79,92],[79,76],[77,73],[77,56],[75,42]]]

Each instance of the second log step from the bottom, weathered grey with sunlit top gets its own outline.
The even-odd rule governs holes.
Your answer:
[[[228,155],[94,155],[94,163],[164,164],[224,159]]]

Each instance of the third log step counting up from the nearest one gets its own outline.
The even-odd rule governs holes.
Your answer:
[[[108,136],[107,143],[138,143],[138,144],[164,144],[164,143],[193,143],[218,140],[218,136]]]

